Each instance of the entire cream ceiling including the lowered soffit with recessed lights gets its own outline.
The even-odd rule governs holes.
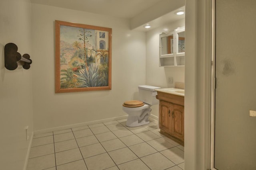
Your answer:
[[[131,29],[137,31],[148,31],[164,23],[185,18],[184,15],[174,14],[176,10],[185,10],[185,0],[31,0],[31,2],[128,19],[131,21]],[[168,8],[165,4],[168,4]],[[135,24],[132,24],[133,22]],[[145,29],[143,26],[146,24],[150,24],[151,28]]]

